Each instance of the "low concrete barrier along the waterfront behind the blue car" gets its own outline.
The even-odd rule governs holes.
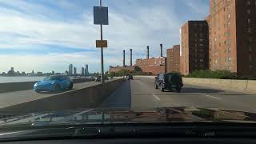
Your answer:
[[[74,83],[91,82],[91,81],[94,81],[94,78],[73,79]],[[20,90],[32,90],[35,82],[37,81],[0,83],[0,93],[7,93],[11,91],[20,91]]]

